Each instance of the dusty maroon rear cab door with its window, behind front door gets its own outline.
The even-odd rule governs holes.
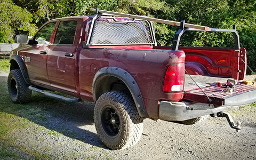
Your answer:
[[[54,41],[47,54],[47,73],[51,86],[72,93],[76,90],[76,49],[80,33],[76,30],[81,27],[77,21],[57,22]]]

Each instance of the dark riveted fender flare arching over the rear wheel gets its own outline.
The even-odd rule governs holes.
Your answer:
[[[93,78],[92,83],[92,92],[93,92],[93,99],[97,101],[96,92],[97,92],[97,85],[99,85],[99,80],[105,76],[114,76],[127,86],[129,89],[132,98],[135,102],[135,106],[137,107],[138,113],[141,117],[149,117],[146,111],[146,107],[144,101],[142,99],[142,95],[139,89],[139,86],[135,79],[129,74],[127,71],[117,67],[104,67],[97,71]]]

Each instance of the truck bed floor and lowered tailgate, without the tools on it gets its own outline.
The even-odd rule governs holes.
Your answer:
[[[256,84],[245,84],[238,81],[233,91],[227,91],[225,85],[217,86],[217,82],[226,83],[228,78],[190,75],[204,93],[185,75],[185,93],[183,98],[201,103],[212,103],[215,106],[243,106],[255,102]],[[211,99],[206,98],[205,94]]]

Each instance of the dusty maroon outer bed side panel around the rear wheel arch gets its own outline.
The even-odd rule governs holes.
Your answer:
[[[161,55],[161,56],[160,56]],[[151,117],[158,115],[158,101],[179,101],[183,92],[165,93],[162,91],[163,78],[167,66],[184,63],[184,52],[166,50],[119,50],[119,49],[82,49],[79,58],[79,86],[81,98],[92,97],[94,73],[103,67],[119,67],[130,73],[140,87],[147,112]]]

